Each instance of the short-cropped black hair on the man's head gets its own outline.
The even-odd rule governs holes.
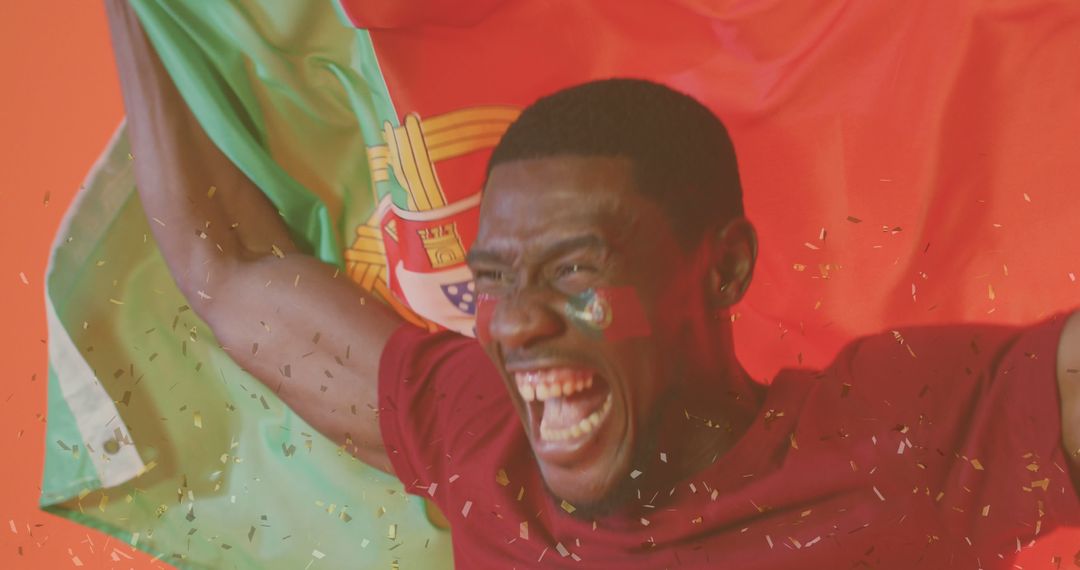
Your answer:
[[[637,190],[671,218],[691,248],[705,231],[743,216],[734,147],[724,123],[693,97],[642,79],[604,79],[525,108],[488,161],[621,157]]]

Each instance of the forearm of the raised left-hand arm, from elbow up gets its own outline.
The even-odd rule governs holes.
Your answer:
[[[214,146],[125,0],[106,3],[139,198],[189,298],[228,264],[296,249],[269,200]]]

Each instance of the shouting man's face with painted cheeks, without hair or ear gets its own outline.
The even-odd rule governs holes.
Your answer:
[[[549,488],[580,506],[610,499],[654,447],[686,351],[664,309],[700,291],[685,286],[696,270],[631,174],[617,158],[498,165],[469,254],[477,338]]]

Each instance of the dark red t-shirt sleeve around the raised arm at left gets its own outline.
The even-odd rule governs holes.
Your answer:
[[[481,449],[478,442],[491,439],[492,417],[507,406],[505,389],[474,339],[403,325],[382,351],[379,428],[407,492],[440,503],[438,487]]]

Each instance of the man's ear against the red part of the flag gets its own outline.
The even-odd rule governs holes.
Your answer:
[[[754,275],[757,232],[746,218],[734,218],[714,230],[705,295],[713,309],[739,302]]]

